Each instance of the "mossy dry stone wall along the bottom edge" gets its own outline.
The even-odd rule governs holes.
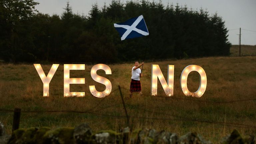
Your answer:
[[[256,144],[254,136],[242,138],[237,130],[220,140],[221,144]],[[5,133],[0,122],[0,144],[212,144],[200,134],[189,132],[183,136],[167,131],[154,129],[136,129],[128,127],[115,132],[112,130],[93,133],[91,128],[83,123],[76,128],[48,127],[17,129],[12,135]]]

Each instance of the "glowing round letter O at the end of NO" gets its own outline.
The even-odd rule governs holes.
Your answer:
[[[191,71],[197,71],[200,74],[200,86],[196,92],[190,92],[187,87],[187,77]],[[205,71],[202,67],[200,67],[198,65],[189,65],[189,66],[185,67],[181,73],[180,85],[181,85],[181,89],[182,89],[183,93],[186,96],[201,97],[205,92],[206,83],[207,83],[207,79],[206,79]]]

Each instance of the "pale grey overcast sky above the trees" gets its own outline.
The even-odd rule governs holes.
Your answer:
[[[37,10],[50,15],[61,15],[67,2],[67,0],[35,1],[40,3],[36,6]],[[158,2],[158,0],[155,1]],[[207,9],[210,15],[217,12],[225,21],[227,29],[230,30],[228,39],[232,44],[238,44],[237,34],[239,34],[239,28],[241,27],[241,44],[256,45],[256,0],[162,0],[162,3],[167,5],[168,1],[173,4],[177,2],[179,5],[186,4],[188,8],[192,9],[200,9],[202,7]],[[92,4],[97,2],[98,6],[102,7],[104,2],[109,5],[111,0],[69,0],[69,2],[74,13],[88,15]],[[123,2],[125,3],[126,0],[123,0]],[[147,22],[147,20],[145,21]]]

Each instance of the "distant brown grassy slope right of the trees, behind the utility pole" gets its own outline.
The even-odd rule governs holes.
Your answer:
[[[230,48],[231,56],[239,56],[239,45],[232,45]],[[241,45],[241,55],[256,55],[256,45]]]

